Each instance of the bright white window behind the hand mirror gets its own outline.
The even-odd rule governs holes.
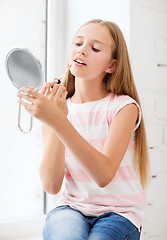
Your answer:
[[[7,76],[5,58],[12,48],[26,47],[45,65],[45,12],[45,0],[0,2],[0,220],[43,214],[40,123],[34,119],[28,134],[18,129],[17,89]],[[29,120],[28,114],[24,117]]]

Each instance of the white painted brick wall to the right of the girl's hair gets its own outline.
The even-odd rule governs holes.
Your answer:
[[[167,1],[130,1],[130,56],[146,123],[152,175],[142,239],[166,240]]]

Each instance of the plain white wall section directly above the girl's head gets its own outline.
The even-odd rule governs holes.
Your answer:
[[[129,46],[129,0],[67,1],[67,43],[71,44],[76,31],[82,24],[94,18],[117,23]]]

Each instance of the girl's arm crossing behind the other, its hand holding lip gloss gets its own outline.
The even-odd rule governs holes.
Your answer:
[[[68,109],[65,103],[67,92],[61,85],[54,84],[55,81],[47,83],[48,91],[46,97],[57,104],[62,113],[67,115]],[[53,87],[52,91],[50,91],[50,87]],[[57,93],[57,98],[55,98],[55,92]],[[65,146],[56,136],[55,131],[46,124],[42,124],[42,133],[44,145],[40,165],[42,185],[46,192],[57,194],[61,189],[64,177]]]

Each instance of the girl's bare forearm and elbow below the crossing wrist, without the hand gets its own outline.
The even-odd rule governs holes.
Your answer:
[[[62,185],[65,169],[65,147],[56,136],[55,131],[46,124],[42,126],[43,157],[40,176],[43,189],[50,194],[57,194]]]

